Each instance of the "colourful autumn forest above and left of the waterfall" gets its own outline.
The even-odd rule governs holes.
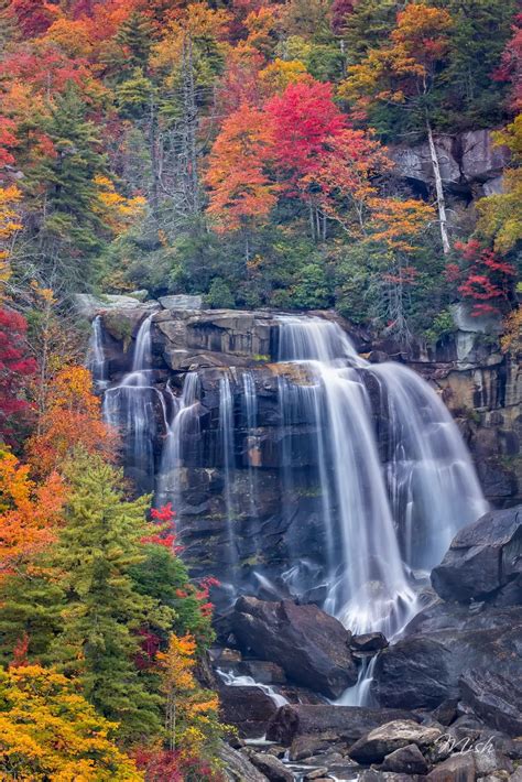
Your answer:
[[[405,349],[458,305],[514,355],[521,108],[516,0],[0,0],[2,779],[231,779],[217,579],[123,475],[76,295],[335,309]],[[458,193],[441,139],[480,130],[502,185]]]

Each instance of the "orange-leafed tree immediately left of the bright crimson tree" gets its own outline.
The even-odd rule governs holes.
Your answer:
[[[225,120],[210,152],[208,214],[217,231],[244,231],[247,260],[249,228],[267,220],[278,200],[279,187],[267,173],[273,150],[267,116],[243,105]]]

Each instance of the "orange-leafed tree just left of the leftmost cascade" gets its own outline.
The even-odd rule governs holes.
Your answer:
[[[90,372],[84,367],[66,367],[50,382],[45,410],[29,441],[28,458],[33,473],[50,475],[76,447],[110,458],[116,435],[101,419]]]

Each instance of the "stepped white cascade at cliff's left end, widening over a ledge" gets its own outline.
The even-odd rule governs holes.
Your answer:
[[[141,324],[134,344],[131,371],[118,385],[104,395],[104,417],[108,424],[124,432],[123,459],[127,473],[140,489],[151,490],[154,476],[154,436],[156,404],[163,409],[163,398],[151,385],[152,315]]]

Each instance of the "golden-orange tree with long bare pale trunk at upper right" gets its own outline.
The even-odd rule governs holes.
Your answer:
[[[433,137],[434,95],[444,74],[453,21],[445,10],[410,3],[396,18],[390,43],[370,50],[365,59],[348,68],[341,95],[360,110],[385,106],[391,116],[405,113],[409,127],[427,135],[435,182],[444,253],[450,250],[446,202],[438,154]]]

